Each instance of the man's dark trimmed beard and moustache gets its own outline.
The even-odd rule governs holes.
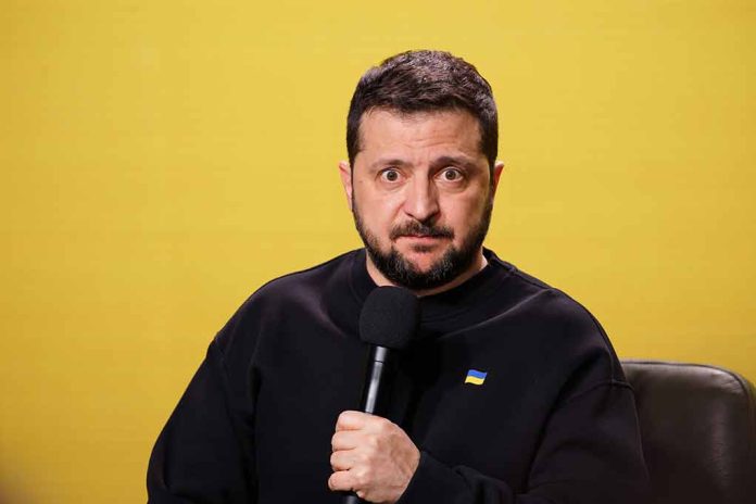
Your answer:
[[[441,287],[449,284],[463,273],[465,273],[477,257],[480,247],[483,244],[483,239],[491,224],[491,212],[493,211],[493,198],[489,196],[489,200],[483,209],[483,214],[477,225],[469,230],[465,240],[459,248],[452,245],[439,259],[430,269],[420,272],[407,261],[392,244],[388,253],[383,253],[378,240],[363,225],[357,211],[356,201],[352,200],[352,214],[354,215],[354,225],[357,228],[360,238],[362,238],[365,249],[376,265],[378,270],[392,284],[406,287],[411,290],[428,290]],[[434,237],[443,237],[453,239],[454,231],[442,226],[433,226],[432,224],[424,224],[417,220],[396,226],[391,229],[389,238],[391,241],[400,236],[405,235],[428,235]],[[418,249],[421,251],[421,249]]]

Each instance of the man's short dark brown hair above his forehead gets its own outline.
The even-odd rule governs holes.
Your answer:
[[[475,66],[444,51],[406,51],[388,58],[360,78],[346,116],[346,152],[354,168],[361,150],[360,123],[374,109],[402,114],[464,110],[480,126],[480,150],[493,169],[499,118],[491,85]]]

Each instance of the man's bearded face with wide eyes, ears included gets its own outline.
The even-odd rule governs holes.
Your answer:
[[[362,150],[341,176],[368,260],[392,284],[433,289],[480,257],[502,165],[464,111],[366,113]]]

